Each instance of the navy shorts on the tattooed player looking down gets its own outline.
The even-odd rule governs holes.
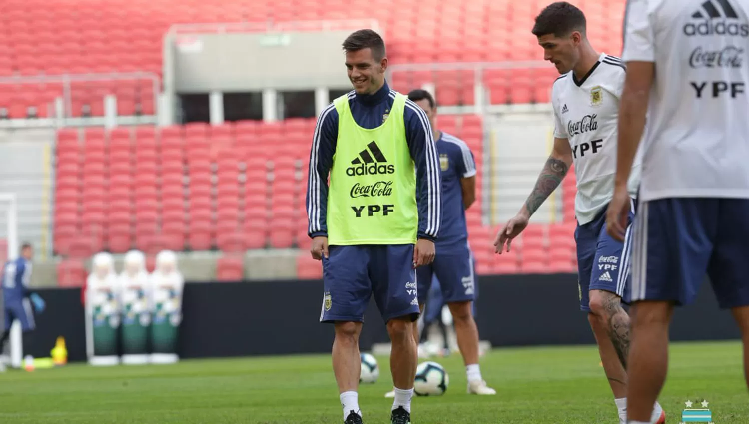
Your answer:
[[[632,219],[634,200],[630,201],[629,221],[624,242],[612,239],[606,233],[606,211],[608,206],[593,221],[577,225],[574,241],[577,244],[577,289],[580,295],[580,310],[590,310],[590,290],[605,290],[625,297],[628,290],[627,277],[630,271]]]

